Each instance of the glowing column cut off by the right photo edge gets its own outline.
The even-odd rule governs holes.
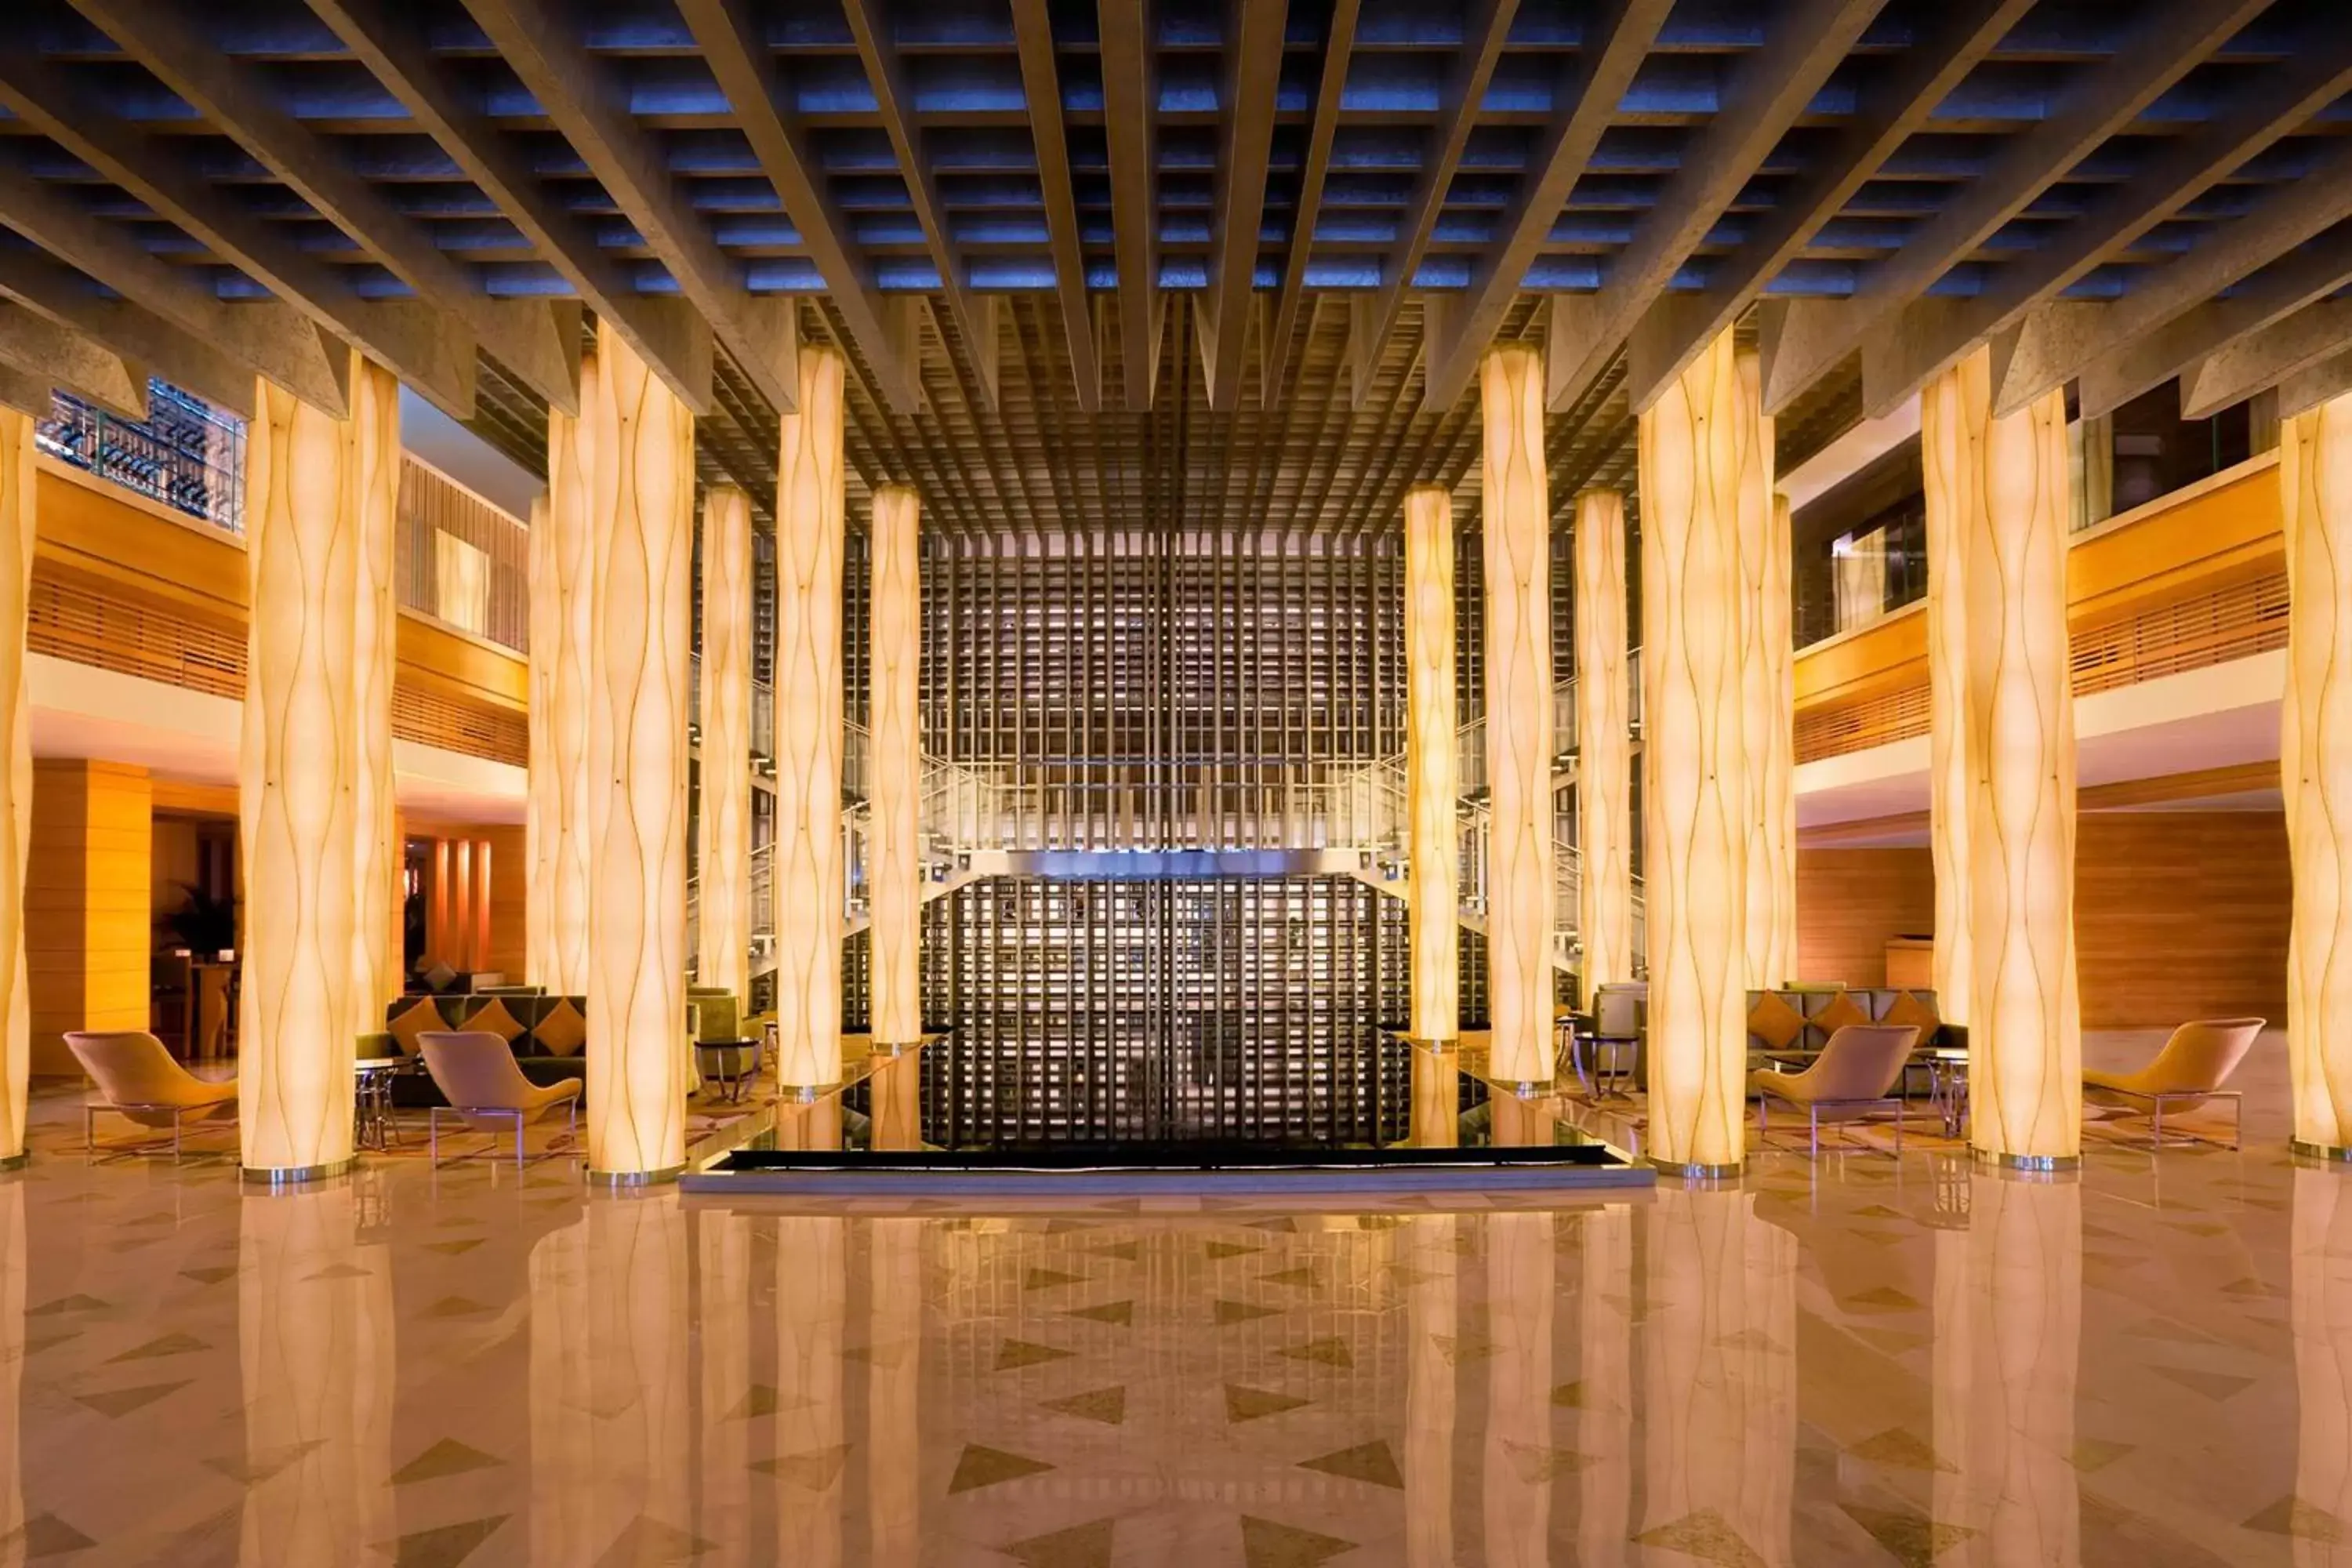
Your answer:
[[[2286,701],[2279,783],[2296,867],[2286,1060],[2296,1143],[2352,1145],[2352,397],[2279,430]]]

